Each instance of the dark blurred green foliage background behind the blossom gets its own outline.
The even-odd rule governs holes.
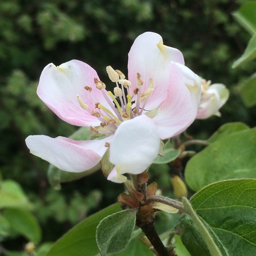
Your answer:
[[[106,66],[127,74],[134,39],[146,31],[156,32],[165,45],[183,53],[185,64],[196,74],[225,84],[231,93],[220,110],[221,118],[196,120],[188,134],[207,139],[221,124],[234,121],[252,127],[255,107],[244,107],[239,85],[255,72],[256,64],[231,68],[250,38],[232,16],[244,2],[0,1],[0,171],[3,180],[17,181],[34,204],[43,241],[55,241],[88,214],[115,202],[123,191],[123,185],[106,181],[100,171],[63,184],[61,191],[50,187],[48,163],[31,155],[24,140],[31,134],[67,137],[77,127],[60,120],[37,97],[43,68],[50,62],[60,65],[78,59],[107,82]],[[167,194],[171,191],[171,184],[160,172],[154,178]],[[3,239],[1,246],[22,251],[26,243],[27,239],[13,235]]]

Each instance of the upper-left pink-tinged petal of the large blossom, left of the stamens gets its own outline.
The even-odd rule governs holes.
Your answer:
[[[65,122],[77,126],[97,126],[100,121],[84,110],[76,97],[78,94],[90,110],[95,108],[96,102],[109,107],[102,92],[96,88],[94,78],[99,80],[96,71],[82,61],[71,60],[59,67],[51,63],[40,76],[37,94]],[[85,86],[92,87],[92,92],[86,91]]]

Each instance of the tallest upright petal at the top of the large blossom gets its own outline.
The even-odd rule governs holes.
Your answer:
[[[140,73],[143,85],[141,92],[149,87],[150,78],[153,79],[154,92],[150,95],[147,108],[157,108],[166,97],[169,82],[169,63],[184,64],[182,53],[172,47],[163,45],[160,35],[146,32],[138,36],[128,54],[128,78],[132,82],[132,90],[136,88],[136,74]],[[143,103],[142,103],[143,104]]]

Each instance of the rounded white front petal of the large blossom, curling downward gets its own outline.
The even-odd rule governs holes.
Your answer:
[[[124,121],[110,143],[109,160],[119,174],[139,174],[145,171],[158,154],[160,138],[148,116]]]

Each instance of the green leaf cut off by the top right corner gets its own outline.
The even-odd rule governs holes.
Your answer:
[[[236,12],[235,19],[252,35],[256,34],[256,1],[245,2]]]

